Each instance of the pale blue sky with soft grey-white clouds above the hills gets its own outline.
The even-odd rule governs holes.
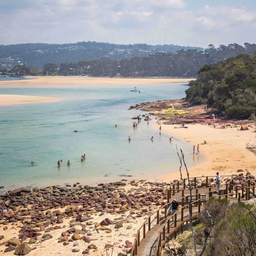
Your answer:
[[[0,0],[0,44],[256,43],[255,0]]]

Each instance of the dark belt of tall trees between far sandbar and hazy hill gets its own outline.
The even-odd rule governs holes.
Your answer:
[[[66,63],[62,62],[58,65],[59,62],[56,59],[52,63],[45,62],[43,70],[37,75],[196,77],[198,70],[205,64],[224,61],[226,58],[234,57],[237,54],[251,54],[253,52],[256,52],[256,44],[245,43],[244,47],[238,44],[221,45],[218,48],[209,45],[208,49],[201,51],[197,49],[188,49],[186,51],[181,49],[176,53],[168,51],[155,52],[154,54],[147,54],[148,57],[123,58],[121,60],[103,57],[94,60],[87,58],[77,63],[68,63],[69,58],[66,58]],[[82,58],[84,58],[83,55],[80,55],[80,59]],[[30,63],[28,62],[28,64]],[[13,69],[12,72],[15,72],[15,70]],[[35,73],[30,72],[30,74],[34,75]]]

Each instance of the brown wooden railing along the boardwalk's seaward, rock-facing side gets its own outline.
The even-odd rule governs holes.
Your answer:
[[[231,177],[231,180],[229,181],[229,183],[226,183],[225,184],[225,195],[221,195],[222,193],[222,190],[218,190],[218,196],[219,198],[225,196],[226,198],[228,197],[228,195],[235,195],[235,198],[238,197],[238,201],[240,201],[241,199],[245,198],[246,200],[248,200],[248,195],[251,193],[251,190],[252,190],[252,193],[253,195],[255,195],[255,187],[256,187],[256,182],[252,181],[252,180],[247,180],[247,182],[244,184],[244,185],[247,185],[246,186],[238,186],[238,185],[235,185],[233,180],[234,180],[234,177],[236,177],[235,175],[232,175],[231,176],[222,176],[223,177]],[[193,194],[193,196],[196,197],[196,201],[198,201],[198,197],[201,196],[200,193],[200,190],[204,189],[205,190],[205,187],[204,188],[196,188],[196,184],[197,184],[197,179],[198,178],[204,178],[206,180],[206,188],[209,189],[208,192],[204,192],[204,194],[208,194],[208,198],[212,197],[212,193],[213,191],[217,190],[216,187],[209,187],[208,186],[208,180],[209,178],[214,178],[213,176],[206,176],[206,177],[193,177],[190,179],[191,180],[194,180],[194,188],[193,190],[195,190],[195,194]],[[187,180],[187,179],[185,179]],[[137,231],[137,234],[136,234],[136,237],[135,237],[135,240],[134,240],[134,244],[133,244],[133,247],[132,247],[132,250],[131,250],[131,255],[132,256],[135,256],[137,255],[137,247],[140,246],[140,240],[141,240],[141,233],[142,233],[142,238],[145,238],[146,237],[146,233],[148,231],[151,230],[151,226],[153,224],[153,222],[155,221],[156,224],[159,224],[159,220],[160,220],[160,216],[159,216],[159,212],[164,209],[164,217],[166,218],[166,213],[167,213],[167,209],[168,207],[170,206],[170,198],[171,196],[175,195],[175,192],[177,191],[178,193],[181,191],[181,197],[178,198],[177,200],[180,201],[181,205],[185,203],[185,205],[188,204],[188,197],[189,196],[184,196],[184,192],[185,191],[188,191],[188,189],[186,189],[185,185],[183,184],[183,188],[180,188],[180,183],[183,184],[183,181],[182,180],[178,180],[176,181],[174,184],[172,184],[170,186],[170,188],[167,190],[167,203],[163,206],[161,206],[158,210],[154,211],[150,216],[147,217],[147,219],[144,221],[144,223],[142,224],[142,226],[138,229]],[[247,184],[248,183],[248,184]],[[252,185],[254,184],[254,185]],[[233,193],[231,193],[231,191],[234,190],[234,187],[235,187],[235,191]],[[239,188],[241,189],[241,192],[238,192]],[[229,193],[229,194],[228,194]],[[200,198],[201,202],[202,202],[202,198]],[[194,202],[196,202],[194,201]],[[193,204],[194,204],[193,202]],[[182,206],[183,208],[184,206]],[[153,217],[154,215],[156,215],[155,217]],[[146,228],[147,226],[147,228]],[[147,229],[147,231],[146,231]]]

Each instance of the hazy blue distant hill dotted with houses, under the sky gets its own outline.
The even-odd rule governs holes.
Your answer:
[[[0,66],[13,67],[19,63],[42,68],[46,63],[60,65],[61,63],[78,62],[82,59],[94,60],[107,57],[110,59],[129,59],[132,57],[147,57],[156,52],[175,53],[178,50],[197,49],[200,47],[178,45],[119,45],[99,42],[77,42],[70,44],[17,44],[0,45]]]

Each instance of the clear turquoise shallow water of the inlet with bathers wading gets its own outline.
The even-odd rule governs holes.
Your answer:
[[[0,192],[76,182],[95,185],[123,179],[119,175],[132,175],[128,180],[155,180],[179,169],[176,144],[183,149],[189,167],[202,161],[203,156],[193,161],[188,143],[178,138],[169,143],[170,135],[160,134],[155,128],[154,116],[149,123],[142,119],[133,128],[131,118],[146,112],[128,110],[140,102],[184,97],[187,85],[137,85],[140,94],[130,92],[131,88],[131,85],[1,86],[0,94],[63,100],[0,106],[0,186],[4,186]],[[80,132],[74,133],[75,129]],[[84,153],[86,160],[81,162]],[[57,162],[61,159],[59,168]],[[30,164],[32,161],[34,166]]]

